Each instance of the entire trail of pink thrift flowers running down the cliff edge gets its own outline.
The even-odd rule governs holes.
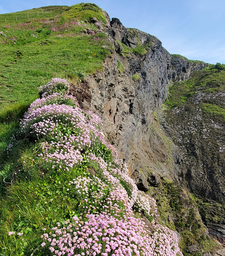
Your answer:
[[[181,256],[173,231],[155,225],[150,232],[143,219],[134,217],[133,208],[157,216],[154,199],[137,190],[127,166],[106,143],[100,118],[63,95],[68,89],[67,81],[60,78],[41,87],[43,98],[31,104],[20,122],[20,134],[44,137],[37,158],[52,163],[54,170],[69,171],[85,161],[101,172],[68,181],[67,193],[80,201],[79,217],[71,223],[67,220],[62,228],[57,223],[41,236],[41,246],[48,246],[55,256]],[[67,105],[68,101],[73,104]],[[102,149],[112,150],[111,161],[104,160]]]

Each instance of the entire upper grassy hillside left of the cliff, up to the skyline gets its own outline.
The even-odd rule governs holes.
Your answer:
[[[74,5],[0,15],[2,172],[8,168],[4,164],[4,150],[22,114],[37,98],[37,87],[46,84],[53,76],[77,83],[83,76],[101,69],[110,52],[112,46],[107,42],[106,34],[100,33],[94,24],[64,15],[72,11],[76,16],[78,7],[82,8],[85,19],[90,20],[94,14],[102,14],[100,8],[95,10],[95,6],[95,11],[90,13],[89,5]],[[13,128],[12,132],[9,127]]]

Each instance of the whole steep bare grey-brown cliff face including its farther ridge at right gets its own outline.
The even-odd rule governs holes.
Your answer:
[[[118,19],[110,21],[107,16],[107,23],[115,51],[106,58],[102,71],[85,78],[86,96],[80,101],[103,120],[107,140],[128,164],[139,190],[158,187],[162,176],[186,187],[191,165],[183,172],[184,152],[169,138],[173,127],[166,118],[160,126],[155,110],[166,100],[172,81],[187,80],[207,64],[170,55],[156,37],[125,28]],[[193,246],[190,251],[197,250]]]

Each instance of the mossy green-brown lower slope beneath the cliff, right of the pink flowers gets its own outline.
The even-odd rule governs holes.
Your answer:
[[[207,235],[195,202],[178,184],[163,178],[160,186],[151,187],[148,194],[157,201],[160,222],[181,235],[179,246],[185,256],[215,251],[217,244]],[[191,245],[197,245],[198,250],[188,252]]]

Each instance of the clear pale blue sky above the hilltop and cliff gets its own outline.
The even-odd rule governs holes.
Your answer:
[[[129,28],[158,37],[170,54],[225,64],[224,0],[0,0],[0,13],[94,2]]]

